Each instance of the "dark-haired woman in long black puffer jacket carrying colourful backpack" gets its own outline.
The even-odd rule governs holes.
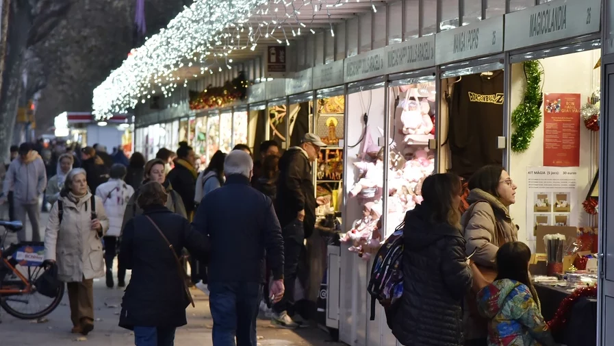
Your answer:
[[[426,177],[421,205],[405,215],[403,295],[392,332],[405,346],[463,345],[461,304],[472,285],[460,231],[461,180]]]

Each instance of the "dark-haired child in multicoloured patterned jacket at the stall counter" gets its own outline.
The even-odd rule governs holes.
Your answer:
[[[478,310],[489,319],[489,346],[557,345],[541,316],[530,281],[531,251],[524,243],[505,243],[497,251],[498,275],[477,295]]]

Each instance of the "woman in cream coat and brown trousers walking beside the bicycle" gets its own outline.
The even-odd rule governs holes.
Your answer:
[[[88,190],[86,171],[68,172],[44,231],[44,259],[57,263],[58,278],[66,282],[75,334],[94,329],[92,284],[105,275],[101,238],[108,229],[101,199]]]

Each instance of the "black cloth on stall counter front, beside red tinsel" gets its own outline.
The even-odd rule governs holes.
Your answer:
[[[534,284],[541,301],[541,314],[550,321],[557,312],[561,301],[570,293],[552,286]],[[565,328],[554,333],[558,343],[567,346],[597,345],[597,299],[581,297],[572,307],[570,318]]]

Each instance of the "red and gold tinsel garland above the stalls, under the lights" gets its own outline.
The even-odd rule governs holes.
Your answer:
[[[243,100],[247,96],[248,85],[245,74],[241,72],[239,77],[226,82],[222,87],[207,86],[202,92],[190,90],[190,110],[224,107]]]

